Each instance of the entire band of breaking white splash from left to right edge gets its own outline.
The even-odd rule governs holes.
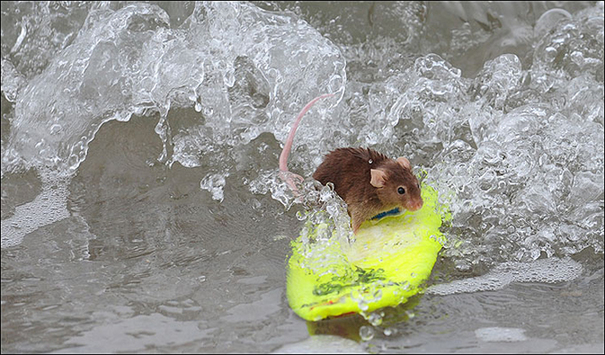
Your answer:
[[[3,34],[3,53],[10,56],[2,58],[2,91],[14,111],[3,128],[2,176],[45,165],[73,174],[102,124],[135,114],[158,121],[159,160],[209,167],[200,186],[215,200],[229,183],[221,177],[251,171],[243,180],[250,192],[270,193],[289,208],[294,199],[270,156],[305,102],[340,92],[305,117],[293,171],[310,176],[323,155],[340,146],[407,156],[452,209],[445,255],[460,270],[564,257],[587,247],[602,253],[599,4],[575,13],[543,8],[536,19],[523,18],[536,23],[531,48],[524,33],[511,32],[512,23],[488,16],[525,14],[519,9],[526,5],[463,4],[456,11],[467,24],[458,32],[437,26],[436,34],[450,33],[439,46],[452,50],[431,47],[441,55],[392,61],[385,53],[393,48],[418,53],[419,29],[435,24],[440,13],[423,23],[426,9],[384,5],[410,20],[401,33],[405,44],[389,47],[387,32],[331,41],[293,13],[247,3],[197,3],[178,21],[149,4],[74,5],[61,10],[74,22],[60,31],[63,39],[46,61],[36,61],[31,47],[43,38],[36,28],[47,25],[18,17],[14,31]],[[60,17],[58,10],[41,9]],[[338,21],[321,30],[333,30]],[[476,74],[461,68],[460,53],[476,52],[494,35],[500,48],[490,47]],[[501,53],[507,48],[515,50]],[[376,63],[368,71],[358,70],[364,55]],[[39,65],[30,68],[27,60]],[[264,151],[246,162],[259,137]],[[324,216],[341,228],[343,211],[334,207]]]

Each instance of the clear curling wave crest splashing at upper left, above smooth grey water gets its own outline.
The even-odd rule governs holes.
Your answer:
[[[298,45],[301,38],[304,48]],[[73,42],[15,98],[3,173],[15,165],[73,171],[103,123],[127,121],[133,113],[160,115],[160,160],[169,164],[182,159],[196,165],[191,152],[180,152],[187,146],[183,142],[205,147],[211,139],[207,148],[212,149],[246,144],[263,132],[281,137],[285,127],[276,123],[291,113],[292,102],[307,99],[299,94],[301,87],[341,88],[345,74],[339,57],[303,21],[250,4],[198,3],[176,29],[155,5],[91,9]],[[313,75],[303,75],[303,69]],[[16,89],[5,87],[4,78],[17,76],[14,72],[3,60],[3,91],[9,97]],[[192,106],[200,112],[196,120],[172,128],[170,109]],[[8,158],[14,156],[18,163]]]

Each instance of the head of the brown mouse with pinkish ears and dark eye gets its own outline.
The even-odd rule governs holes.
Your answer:
[[[389,159],[371,169],[370,174],[370,184],[376,188],[376,194],[386,208],[399,206],[409,211],[422,208],[420,184],[406,158]]]

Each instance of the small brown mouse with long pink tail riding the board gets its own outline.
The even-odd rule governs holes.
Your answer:
[[[300,196],[296,181],[304,179],[288,170],[287,160],[294,136],[304,114],[317,101],[333,96],[324,94],[311,100],[298,114],[280,155],[280,177],[295,196]],[[338,148],[326,154],[313,173],[322,185],[332,183],[334,191],[347,204],[353,233],[368,219],[378,219],[403,210],[422,208],[420,184],[405,157],[391,159],[370,148]]]

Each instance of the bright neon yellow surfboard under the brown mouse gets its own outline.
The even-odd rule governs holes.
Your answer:
[[[365,221],[353,240],[320,238],[328,225],[308,221],[292,242],[286,294],[301,318],[319,321],[395,307],[417,294],[428,279],[444,237],[447,212],[438,193],[422,187],[423,207]]]

